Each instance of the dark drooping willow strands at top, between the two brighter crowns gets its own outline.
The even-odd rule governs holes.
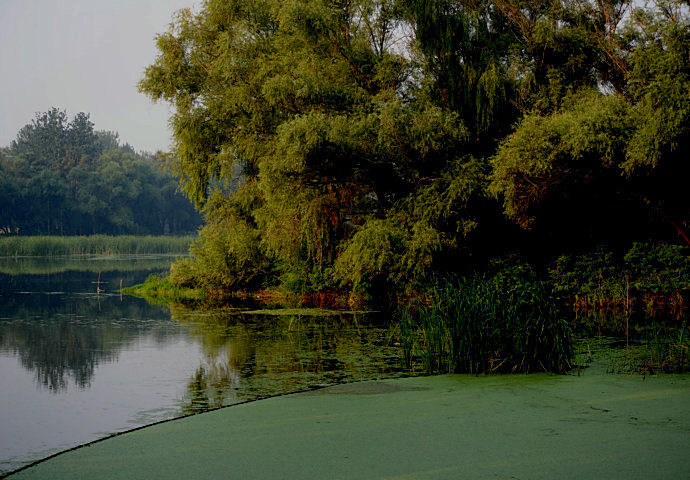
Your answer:
[[[514,37],[489,2],[402,2],[414,22],[430,94],[457,112],[482,146],[517,118],[506,62]]]

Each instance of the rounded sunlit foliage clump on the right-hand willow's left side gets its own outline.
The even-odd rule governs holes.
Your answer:
[[[609,207],[598,200],[622,183],[619,167],[631,134],[623,99],[586,91],[565,103],[552,115],[523,118],[493,159],[490,188],[503,197],[506,214],[525,228],[542,216],[551,222],[562,215],[564,197],[590,197],[576,208],[580,215],[594,215]]]

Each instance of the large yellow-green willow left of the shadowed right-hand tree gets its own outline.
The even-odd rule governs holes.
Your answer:
[[[177,13],[139,86],[174,107],[173,168],[207,215],[173,270],[180,282],[214,268],[228,288],[273,273],[302,288],[419,276],[443,237],[471,229],[463,205],[480,182],[462,155],[468,132],[420,93],[403,13],[392,0],[208,0]],[[445,203],[429,205],[436,194]],[[400,234],[409,267],[354,255],[362,242],[384,254],[372,232]],[[259,251],[217,248],[235,234]],[[238,281],[250,263],[261,268]]]

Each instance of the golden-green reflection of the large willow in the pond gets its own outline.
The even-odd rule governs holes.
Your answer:
[[[203,345],[186,414],[317,385],[400,375],[399,350],[373,314],[271,316],[173,309]]]

